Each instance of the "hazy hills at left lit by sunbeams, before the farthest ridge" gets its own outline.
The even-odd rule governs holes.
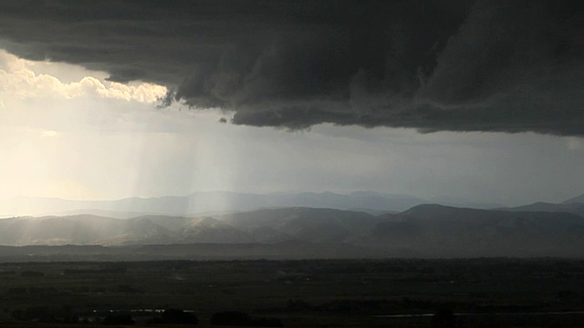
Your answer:
[[[186,243],[339,243],[383,219],[364,212],[310,208],[255,210],[200,218],[128,220],[73,215],[0,220],[2,245],[138,245]]]

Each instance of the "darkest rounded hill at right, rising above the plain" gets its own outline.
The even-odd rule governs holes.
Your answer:
[[[584,218],[566,212],[420,205],[351,243],[431,256],[582,256]]]

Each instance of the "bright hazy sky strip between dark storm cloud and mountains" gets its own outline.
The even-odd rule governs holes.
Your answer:
[[[376,190],[523,204],[583,192],[584,139],[221,124],[229,113],[156,108],[166,88],[0,51],[0,197],[73,200]]]

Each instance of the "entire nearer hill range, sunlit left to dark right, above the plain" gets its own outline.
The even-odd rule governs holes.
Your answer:
[[[321,196],[336,200],[338,195]],[[0,220],[0,245],[108,246],[99,249],[104,253],[151,249],[161,258],[583,257],[583,207],[570,202],[477,210],[422,204],[378,215],[295,206],[126,220],[88,214],[18,217]]]

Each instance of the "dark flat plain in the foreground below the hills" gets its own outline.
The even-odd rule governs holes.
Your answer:
[[[128,316],[133,326],[181,326],[156,319],[165,309],[192,313],[203,327],[227,311],[285,327],[576,327],[584,261],[0,263],[0,327]]]

